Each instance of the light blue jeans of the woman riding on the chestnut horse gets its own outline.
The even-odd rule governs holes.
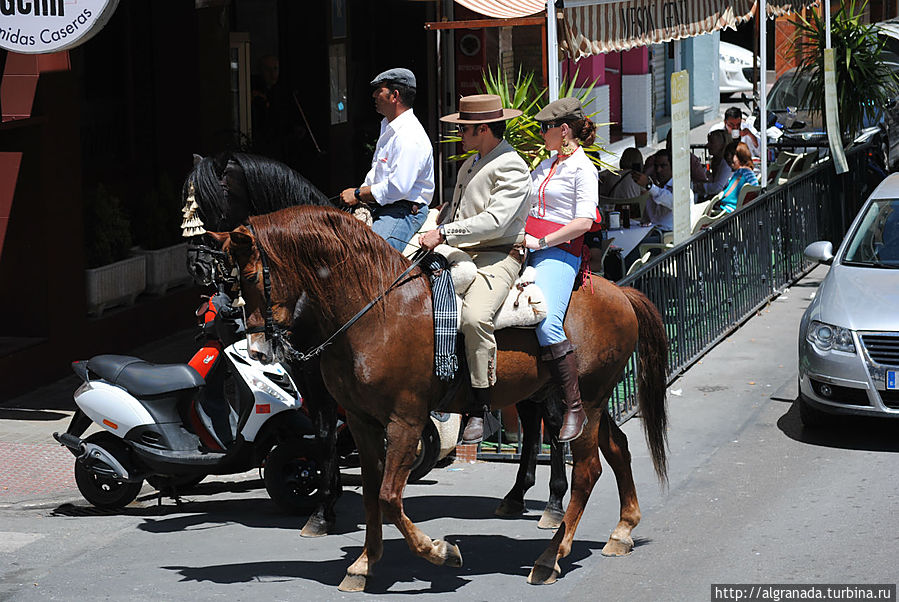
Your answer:
[[[561,343],[568,338],[562,323],[568,311],[574,279],[581,267],[581,258],[558,247],[550,247],[531,251],[528,265],[536,268],[534,280],[546,298],[546,318],[537,324],[537,341],[541,347]]]

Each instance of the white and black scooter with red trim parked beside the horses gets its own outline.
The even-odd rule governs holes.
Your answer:
[[[263,467],[265,489],[291,513],[317,503],[315,429],[279,364],[247,352],[240,309],[224,293],[197,310],[201,349],[186,364],[98,355],[72,364],[83,381],[64,433],[75,482],[101,508],[131,503],[143,481],[177,496],[211,474]],[[92,425],[102,428],[82,439]]]

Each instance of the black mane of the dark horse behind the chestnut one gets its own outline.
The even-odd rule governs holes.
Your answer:
[[[190,186],[207,230],[231,230],[247,217],[294,205],[328,205],[328,199],[302,175],[274,159],[247,153],[221,153],[199,161],[184,181]]]

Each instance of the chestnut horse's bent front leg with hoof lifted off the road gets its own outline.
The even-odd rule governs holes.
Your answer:
[[[412,469],[422,428],[421,423],[412,426],[404,422],[390,422],[387,425],[381,511],[384,518],[400,530],[415,555],[436,565],[462,566],[462,554],[458,546],[440,539],[432,540],[403,511],[403,490]]]

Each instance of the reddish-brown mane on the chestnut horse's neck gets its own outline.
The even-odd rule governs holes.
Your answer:
[[[289,207],[249,221],[268,256],[273,287],[302,290],[326,319],[353,298],[374,299],[409,267],[370,227],[335,208]],[[426,279],[417,280],[408,285],[426,287]]]

